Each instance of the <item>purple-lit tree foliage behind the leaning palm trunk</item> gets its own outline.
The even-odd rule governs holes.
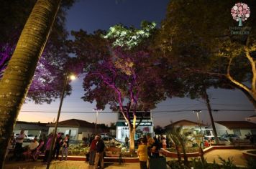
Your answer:
[[[4,9],[0,11],[3,18],[1,22],[0,38],[0,79],[4,69],[11,59],[16,47],[19,34],[22,32],[25,21],[28,18],[36,1],[4,1]],[[68,3],[67,3],[68,2]],[[68,33],[65,31],[65,10],[70,7],[73,1],[66,1],[55,19],[49,40],[42,52],[32,84],[27,94],[28,100],[35,103],[47,102],[60,97],[64,82],[65,63],[68,59],[65,39]],[[68,91],[70,86],[68,85]],[[69,94],[69,92],[68,92]]]

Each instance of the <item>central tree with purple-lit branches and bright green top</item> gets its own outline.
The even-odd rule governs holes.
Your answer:
[[[137,108],[150,110],[166,97],[161,78],[165,68],[147,48],[154,30],[153,23],[143,22],[142,29],[119,24],[105,33],[105,39],[101,36],[104,32],[87,34],[81,30],[73,32],[75,40],[70,42],[85,74],[83,100],[96,101],[98,108],[109,104],[122,113],[129,126],[131,152]]]

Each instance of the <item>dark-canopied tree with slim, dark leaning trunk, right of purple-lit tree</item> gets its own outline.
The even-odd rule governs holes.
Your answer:
[[[232,36],[227,35],[231,23],[229,18],[232,18],[229,13],[227,14],[231,9],[230,4],[227,1],[170,1],[166,19],[156,39],[157,45],[154,46],[168,58],[168,62],[173,67],[171,73],[180,74],[180,80],[185,87],[182,92],[187,93],[191,98],[200,97],[206,100],[215,137],[217,134],[207,89],[232,88],[229,66],[227,66],[230,64],[226,56],[223,58],[221,53],[224,47],[225,50],[232,48],[229,44]],[[209,6],[218,6],[218,8],[209,9]],[[199,21],[200,19],[204,21]],[[223,44],[227,46],[222,47]],[[235,50],[234,47],[232,49]],[[242,66],[233,69],[232,74],[244,82],[247,77],[247,72],[244,70],[247,68],[242,67],[246,67],[247,63],[242,59],[239,61]],[[252,78],[252,86],[253,81]],[[217,137],[216,141],[218,141]]]

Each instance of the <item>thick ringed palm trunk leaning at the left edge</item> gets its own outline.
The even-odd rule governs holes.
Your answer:
[[[61,0],[38,0],[0,81],[0,168]]]

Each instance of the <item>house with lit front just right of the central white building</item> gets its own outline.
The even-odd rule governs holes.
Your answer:
[[[170,131],[173,130],[174,127],[181,127],[182,130],[190,130],[193,134],[204,132],[207,125],[198,122],[192,122],[189,120],[179,120],[177,122],[173,122],[170,125],[165,126],[165,130]]]

